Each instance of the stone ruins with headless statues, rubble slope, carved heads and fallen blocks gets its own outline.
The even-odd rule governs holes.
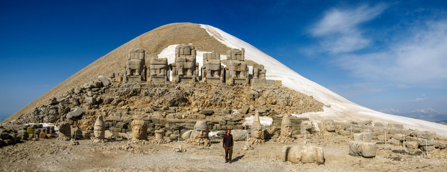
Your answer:
[[[401,124],[298,117],[330,106],[267,79],[264,65],[246,61],[244,51],[230,49],[226,60],[219,53],[203,53],[200,66],[192,44],[177,45],[174,61],[146,60],[144,49],[131,49],[123,61],[124,72],[100,75],[35,107],[11,122],[11,129],[0,128],[0,145],[58,137],[71,140],[72,146],[83,139],[97,145],[123,141],[127,145],[122,149],[128,151],[137,149],[132,145],[147,144],[176,145],[176,153],[188,153],[188,146],[202,151],[222,145],[220,139],[229,129],[247,152],[281,145],[275,155],[284,163],[324,164],[319,145],[333,140],[322,143],[316,138],[340,139],[347,154],[360,158],[375,158],[383,145],[423,157],[446,150],[447,138]]]

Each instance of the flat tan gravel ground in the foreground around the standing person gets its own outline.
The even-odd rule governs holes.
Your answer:
[[[263,145],[254,145],[253,150],[242,150],[246,141],[236,141],[233,148],[233,163],[224,163],[224,151],[219,138],[212,139],[211,147],[192,146],[184,140],[180,145],[185,152],[174,152],[177,142],[162,145],[132,144],[128,150],[122,147],[127,140],[111,140],[107,143],[92,143],[77,140],[79,145],[55,138],[23,141],[21,144],[0,147],[1,171],[53,171],[53,172],[199,172],[199,171],[445,171],[447,150],[429,152],[407,150],[401,146],[377,144],[375,158],[348,155],[348,136],[312,135],[308,143],[323,147],[325,164],[295,164],[282,162],[283,146],[296,142],[279,143],[272,140]],[[410,155],[410,153],[412,152]],[[415,153],[416,152],[416,153]]]

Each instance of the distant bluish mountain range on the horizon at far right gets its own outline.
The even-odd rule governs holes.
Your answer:
[[[411,118],[416,117],[418,119],[423,119],[423,120],[427,120],[427,121],[431,121],[431,122],[447,122],[447,113],[435,111],[431,108],[415,110],[415,111],[411,111],[411,112],[403,112],[403,111],[393,110],[393,109],[381,110],[379,112],[385,113],[385,114],[391,114],[391,115],[411,117]]]

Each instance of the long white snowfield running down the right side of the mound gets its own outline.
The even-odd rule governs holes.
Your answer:
[[[265,69],[267,70],[267,79],[281,80],[283,86],[286,86],[303,94],[313,96],[315,100],[322,102],[324,105],[330,105],[330,108],[323,108],[324,112],[292,115],[308,117],[311,120],[316,121],[321,121],[323,118],[331,118],[335,121],[342,122],[346,120],[371,119],[374,122],[381,121],[388,123],[400,123],[403,124],[405,128],[435,131],[439,135],[447,136],[447,125],[397,115],[383,114],[362,107],[335,94],[327,88],[302,77],[297,72],[293,71],[275,58],[266,55],[250,44],[230,34],[227,34],[218,28],[203,24],[201,25],[201,27],[205,28],[211,36],[215,37],[218,41],[230,48],[244,48],[245,59],[253,60],[265,66]],[[224,59],[223,56],[224,55],[221,55],[221,59]],[[197,61],[201,62],[201,60],[199,59],[197,59]]]

